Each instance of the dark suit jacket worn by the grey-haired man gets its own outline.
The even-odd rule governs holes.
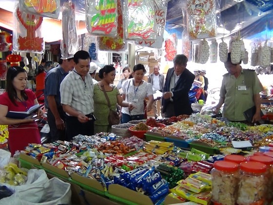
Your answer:
[[[174,71],[174,68],[170,68],[168,70],[163,92],[170,92],[170,83]],[[178,79],[176,87],[173,91],[174,96],[172,97],[174,100],[176,116],[183,114],[191,115],[193,113],[193,109],[189,100],[189,90],[191,89],[194,80],[195,75],[192,74],[187,68],[180,75],[180,78]],[[170,99],[162,99],[163,113],[166,112],[166,108],[169,102]]]

